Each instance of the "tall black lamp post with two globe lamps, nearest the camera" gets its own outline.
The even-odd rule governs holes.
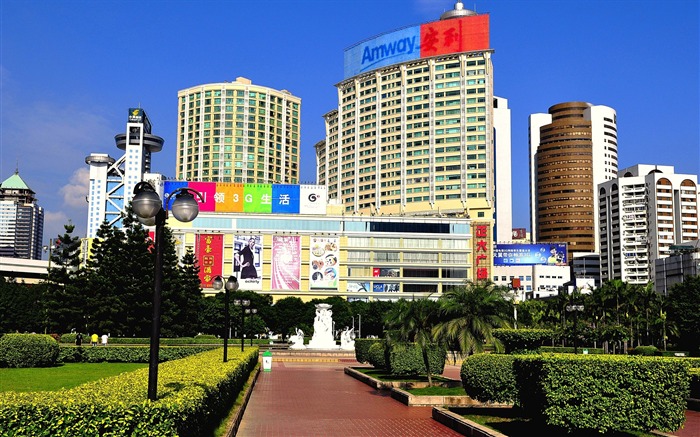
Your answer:
[[[197,195],[204,201],[202,195],[191,188],[178,188],[166,199],[166,207],[175,197],[172,205],[173,216],[181,222],[191,222],[199,214],[199,204],[195,200]],[[134,213],[139,221],[146,226],[156,227],[156,251],[155,270],[153,274],[153,321],[151,323],[151,346],[148,364],[148,399],[155,401],[158,390],[158,347],[160,343],[160,304],[163,285],[163,228],[168,218],[168,213],[163,209],[163,202],[153,186],[148,182],[139,182],[134,187],[134,198],[131,201]]]

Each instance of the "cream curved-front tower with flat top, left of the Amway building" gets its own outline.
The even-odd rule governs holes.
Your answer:
[[[299,183],[299,97],[243,77],[177,97],[177,179]]]

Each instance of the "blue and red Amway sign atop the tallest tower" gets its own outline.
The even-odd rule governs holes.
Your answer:
[[[344,79],[414,59],[488,48],[488,15],[434,21],[385,33],[345,50]]]

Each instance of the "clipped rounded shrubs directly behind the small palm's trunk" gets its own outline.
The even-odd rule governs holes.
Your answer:
[[[443,346],[429,344],[396,343],[389,349],[389,369],[393,375],[426,375],[425,356],[427,354],[430,373],[440,375],[445,370],[446,351]]]

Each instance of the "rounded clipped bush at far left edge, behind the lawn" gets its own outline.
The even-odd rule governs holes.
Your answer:
[[[56,365],[59,345],[50,335],[5,334],[0,337],[0,366],[50,367]]]

